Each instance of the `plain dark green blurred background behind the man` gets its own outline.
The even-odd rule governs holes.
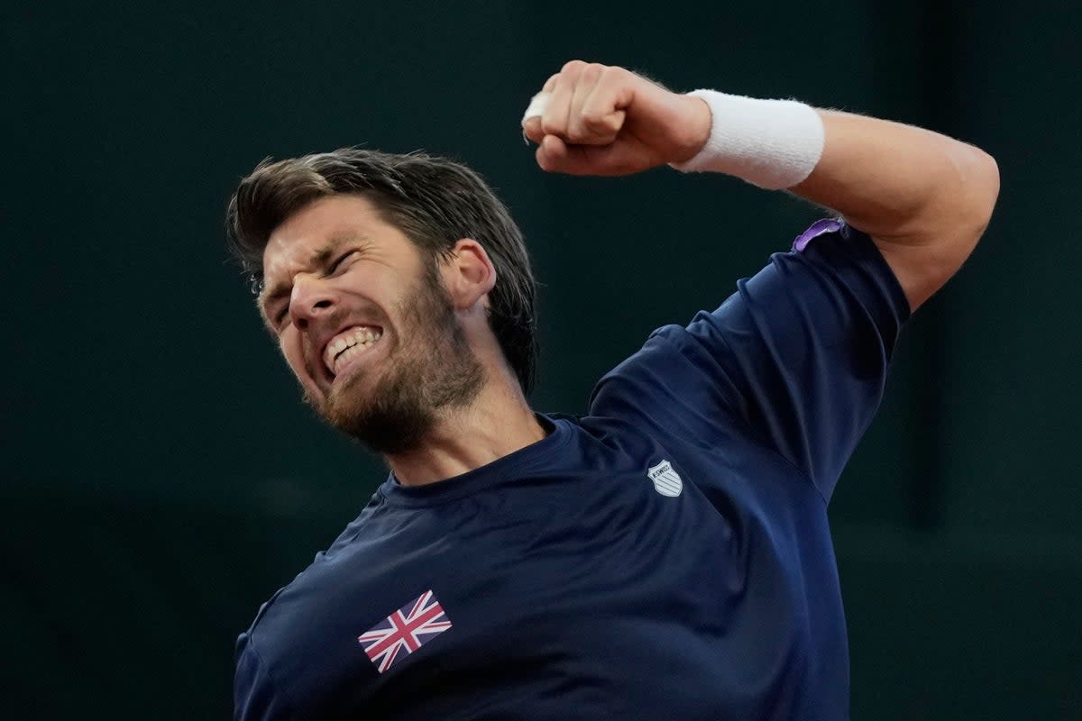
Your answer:
[[[0,11],[0,715],[210,719],[260,603],[385,469],[300,403],[227,262],[266,156],[462,160],[530,242],[539,410],[713,308],[814,208],[721,176],[540,172],[563,62],[797,97],[997,157],[831,516],[856,719],[1082,719],[1082,8],[1074,0],[30,3]]]

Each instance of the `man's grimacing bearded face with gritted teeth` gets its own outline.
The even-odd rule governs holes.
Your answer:
[[[480,390],[435,269],[369,200],[333,196],[292,215],[263,271],[261,310],[305,400],[377,453],[418,449],[440,409]]]

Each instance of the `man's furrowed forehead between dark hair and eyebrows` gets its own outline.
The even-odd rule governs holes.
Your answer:
[[[337,245],[362,240],[382,252],[408,252],[412,243],[386,223],[377,206],[360,196],[322,198],[291,215],[270,233],[263,251],[266,285],[312,269],[321,253]]]

